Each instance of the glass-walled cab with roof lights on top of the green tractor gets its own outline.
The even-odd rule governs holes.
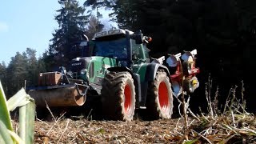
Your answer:
[[[106,30],[94,35],[94,56],[115,58],[118,66],[139,66],[150,62],[146,38],[141,32],[130,30]]]

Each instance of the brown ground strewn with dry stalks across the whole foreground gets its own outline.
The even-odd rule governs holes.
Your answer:
[[[194,115],[186,125],[174,117],[149,121],[135,115],[132,122],[121,122],[50,114],[36,118],[34,143],[256,143],[254,114]],[[13,124],[18,132],[18,122]]]

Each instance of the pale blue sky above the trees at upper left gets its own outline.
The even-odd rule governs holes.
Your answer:
[[[83,1],[80,2],[82,4]],[[54,20],[60,9],[57,0],[2,1],[0,5],[0,62],[9,64],[16,52],[27,47],[37,50],[37,56],[48,50],[58,23]],[[102,21],[107,21],[103,14]]]

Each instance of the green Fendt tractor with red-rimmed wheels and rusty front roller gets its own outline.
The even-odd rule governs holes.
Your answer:
[[[40,74],[29,94],[37,106],[82,106],[100,96],[102,112],[111,120],[131,121],[135,109],[148,117],[171,118],[173,92],[166,66],[150,62],[141,31],[106,30],[94,35],[90,57],[74,58],[60,72]]]

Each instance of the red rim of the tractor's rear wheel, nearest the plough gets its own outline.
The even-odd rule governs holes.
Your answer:
[[[169,109],[169,97],[168,97],[168,88],[165,82],[161,82],[158,88],[158,98],[160,107],[163,111],[168,112]]]

